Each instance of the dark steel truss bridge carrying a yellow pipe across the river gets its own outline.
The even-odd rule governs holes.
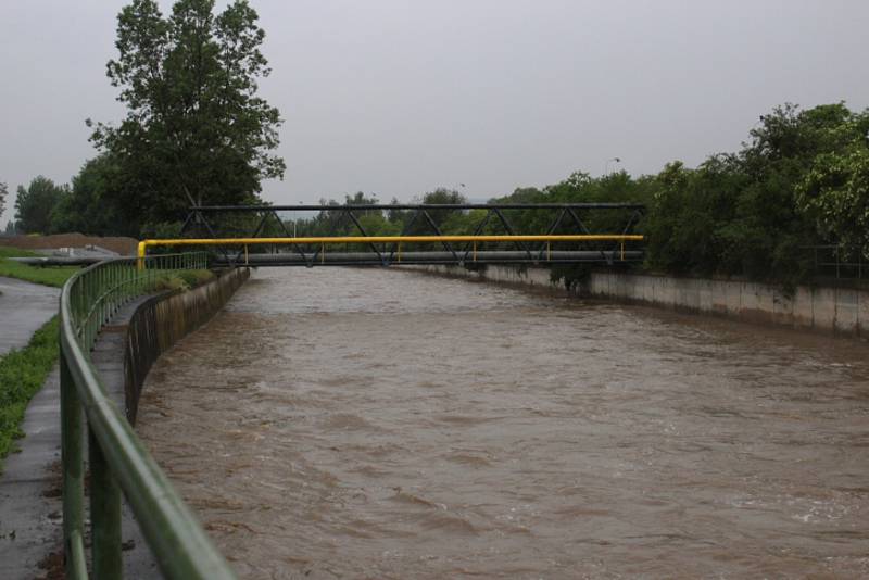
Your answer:
[[[644,211],[637,203],[194,206],[181,237],[143,240],[138,253],[211,247],[215,266],[613,266],[643,259],[643,236],[633,230]],[[375,236],[366,229],[367,216],[393,212],[400,213],[401,234]],[[306,217],[300,220],[300,214]],[[444,222],[455,215],[463,216],[468,231],[444,234]],[[540,229],[519,231],[517,215]],[[597,231],[587,224],[595,224]],[[602,224],[607,231],[601,231]],[[298,225],[303,231],[316,228],[317,235],[297,236]]]

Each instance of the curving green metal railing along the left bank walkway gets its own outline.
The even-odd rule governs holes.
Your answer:
[[[235,578],[105,392],[90,360],[100,328],[123,304],[153,290],[172,270],[206,266],[204,253],[110,260],[83,269],[63,287],[60,367],[64,566],[68,579],[88,577],[85,430],[90,467],[90,570],[95,578],[122,577],[122,490],[166,578]]]

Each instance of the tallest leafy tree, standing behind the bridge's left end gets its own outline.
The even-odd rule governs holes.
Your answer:
[[[272,154],[281,119],[257,96],[270,70],[256,23],[244,0],[217,15],[213,0],[179,0],[168,16],[154,0],[121,11],[106,74],[127,116],[88,123],[118,169],[104,201],[129,223],[147,229],[190,205],[254,201],[262,179],[282,177]]]

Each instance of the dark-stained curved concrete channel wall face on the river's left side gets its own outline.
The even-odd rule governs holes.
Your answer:
[[[127,323],[124,393],[127,419],[136,421],[139,395],[151,366],[173,344],[206,323],[250,277],[234,268],[198,288],[161,294],[141,303]]]

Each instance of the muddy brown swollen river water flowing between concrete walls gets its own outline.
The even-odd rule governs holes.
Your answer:
[[[138,430],[243,578],[858,578],[868,353],[275,268],[158,362]]]

